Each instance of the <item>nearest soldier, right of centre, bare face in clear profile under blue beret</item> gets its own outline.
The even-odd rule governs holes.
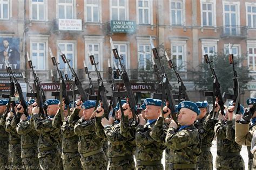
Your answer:
[[[183,101],[178,105],[178,129],[176,122],[171,120],[167,130],[165,144],[170,148],[168,169],[196,169],[197,158],[201,153],[201,141],[194,121],[200,111],[197,105]]]

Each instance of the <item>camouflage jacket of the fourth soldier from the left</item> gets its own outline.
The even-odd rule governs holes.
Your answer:
[[[38,148],[60,145],[60,129],[52,126],[52,119],[52,117],[41,119],[38,114],[33,115],[30,119],[30,122],[33,122],[35,129],[40,133]]]

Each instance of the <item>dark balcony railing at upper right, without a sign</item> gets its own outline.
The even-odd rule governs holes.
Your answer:
[[[247,26],[225,25],[221,26],[221,38],[246,38]]]

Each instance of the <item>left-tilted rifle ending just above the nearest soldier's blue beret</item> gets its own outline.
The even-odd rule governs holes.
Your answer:
[[[179,84],[179,97],[178,97],[178,102],[180,103],[180,97],[181,97],[181,94],[183,95],[182,98],[183,100],[185,101],[190,101],[190,97],[187,95],[187,91],[186,91],[186,87],[183,83],[183,81],[181,80],[181,77],[179,76],[179,73],[177,72],[176,70],[176,67],[177,66],[174,66],[173,65],[173,62],[172,60],[170,60],[169,56],[167,55],[166,51],[165,51],[165,56],[166,56],[166,59],[169,63],[169,66],[170,68],[172,68],[177,76],[177,81],[178,81],[178,84]]]

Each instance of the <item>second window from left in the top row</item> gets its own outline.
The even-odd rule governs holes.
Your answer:
[[[31,20],[45,20],[45,2],[44,0],[32,0],[31,2]]]

